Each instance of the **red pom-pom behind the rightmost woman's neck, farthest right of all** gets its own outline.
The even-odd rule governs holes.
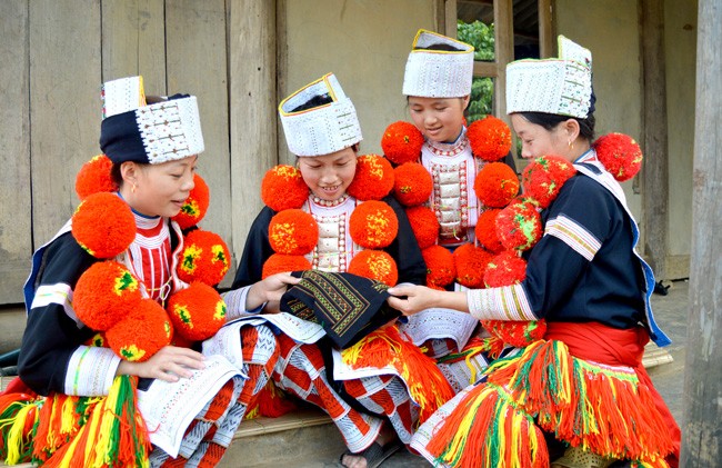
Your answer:
[[[604,135],[594,141],[593,147],[604,169],[620,182],[636,176],[642,167],[642,149],[628,135]]]

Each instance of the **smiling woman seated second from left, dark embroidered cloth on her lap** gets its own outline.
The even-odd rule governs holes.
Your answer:
[[[399,440],[409,442],[418,418],[451,398],[451,388],[434,362],[401,337],[398,325],[332,346],[333,330],[288,313],[291,302],[282,313],[270,313],[280,303],[265,290],[273,289],[274,273],[303,271],[300,286],[312,291],[307,298],[329,298],[319,307],[340,305],[341,315],[340,309],[359,305],[365,309],[388,286],[422,282],[425,266],[403,209],[389,197],[390,163],[380,156],[358,156],[361,129],[337,78],[327,74],[289,96],[279,113],[298,165],[265,175],[261,196],[267,207],[251,227],[234,290],[224,299],[230,313],[254,312],[235,327],[247,320],[267,337],[269,325],[280,330],[279,350],[267,370],[254,375],[268,378],[263,374],[272,368],[277,386],[331,416],[349,448],[341,458],[344,466],[375,467],[400,447]],[[319,286],[324,273],[330,279]],[[362,292],[359,279],[373,279],[378,291]],[[358,323],[355,317],[348,322]],[[248,328],[241,328],[243,346],[255,339],[255,333],[243,335]]]

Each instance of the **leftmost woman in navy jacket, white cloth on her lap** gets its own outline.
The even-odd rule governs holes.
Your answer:
[[[41,457],[58,466],[100,466],[89,458],[94,456],[112,459],[117,466],[148,466],[150,458],[169,457],[180,457],[176,462],[182,465],[188,461],[183,456],[213,466],[227,448],[217,440],[231,440],[238,426],[228,415],[238,412],[241,405],[233,398],[243,382],[241,369],[223,356],[203,355],[200,343],[194,349],[171,346],[174,330],[162,307],[189,286],[177,271],[184,239],[183,226],[174,218],[193,196],[195,167],[204,149],[197,100],[188,94],[146,98],[142,78],[131,77],[103,84],[103,110],[100,147],[107,160],[96,158],[83,167],[77,178],[81,207],[33,255],[24,288],[28,325],[18,362],[19,378],[38,395],[33,405],[43,407],[37,427],[46,432],[60,430],[53,426],[58,421],[50,418],[52,414],[79,411],[88,418],[63,420],[63,427],[69,424],[74,431],[63,429],[63,437],[56,441],[34,434],[40,429],[33,428],[23,438],[31,446],[21,452],[34,452],[33,459]],[[173,138],[166,141],[169,132]],[[89,173],[91,169],[97,173]],[[201,198],[202,210],[188,212],[193,215],[193,226],[204,213],[202,206],[207,207],[208,195]],[[189,237],[202,231],[195,232]],[[204,260],[213,263],[219,258],[213,251],[219,249],[208,247]],[[228,261],[228,249],[220,250]],[[193,267],[202,268],[200,263]],[[224,270],[195,273],[217,282]],[[223,303],[214,289],[205,288],[215,299],[208,303]],[[187,316],[195,331],[185,333],[190,340],[209,337],[224,322],[208,303]],[[207,319],[209,313],[212,320]],[[102,339],[93,339],[99,332]],[[220,376],[225,376],[222,389],[209,390],[203,385]],[[146,398],[137,398],[139,381],[148,387]],[[187,398],[190,394],[192,405]],[[193,412],[197,405],[207,404],[212,414]],[[163,420],[150,427],[146,418],[157,407],[172,414],[185,411],[178,419],[185,426]],[[86,425],[89,419],[93,424]],[[198,428],[194,419],[210,421],[217,431],[202,435],[195,429],[184,435],[189,427]],[[183,456],[157,437],[171,432],[185,439]],[[1,459],[7,457],[3,450],[11,449],[9,442],[0,440]]]

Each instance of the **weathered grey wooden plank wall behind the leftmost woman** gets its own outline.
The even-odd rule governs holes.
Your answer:
[[[201,228],[233,252],[229,286],[278,160],[275,32],[273,1],[2,0],[0,197],[12,202],[0,203],[0,306],[22,301],[32,251],[78,205],[76,173],[100,152],[101,83],[133,74],[149,94],[199,99]]]

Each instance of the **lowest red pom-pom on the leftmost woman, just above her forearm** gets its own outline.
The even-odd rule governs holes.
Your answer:
[[[106,338],[120,358],[142,362],[170,345],[173,327],[160,303],[141,299],[123,320],[106,331]]]

